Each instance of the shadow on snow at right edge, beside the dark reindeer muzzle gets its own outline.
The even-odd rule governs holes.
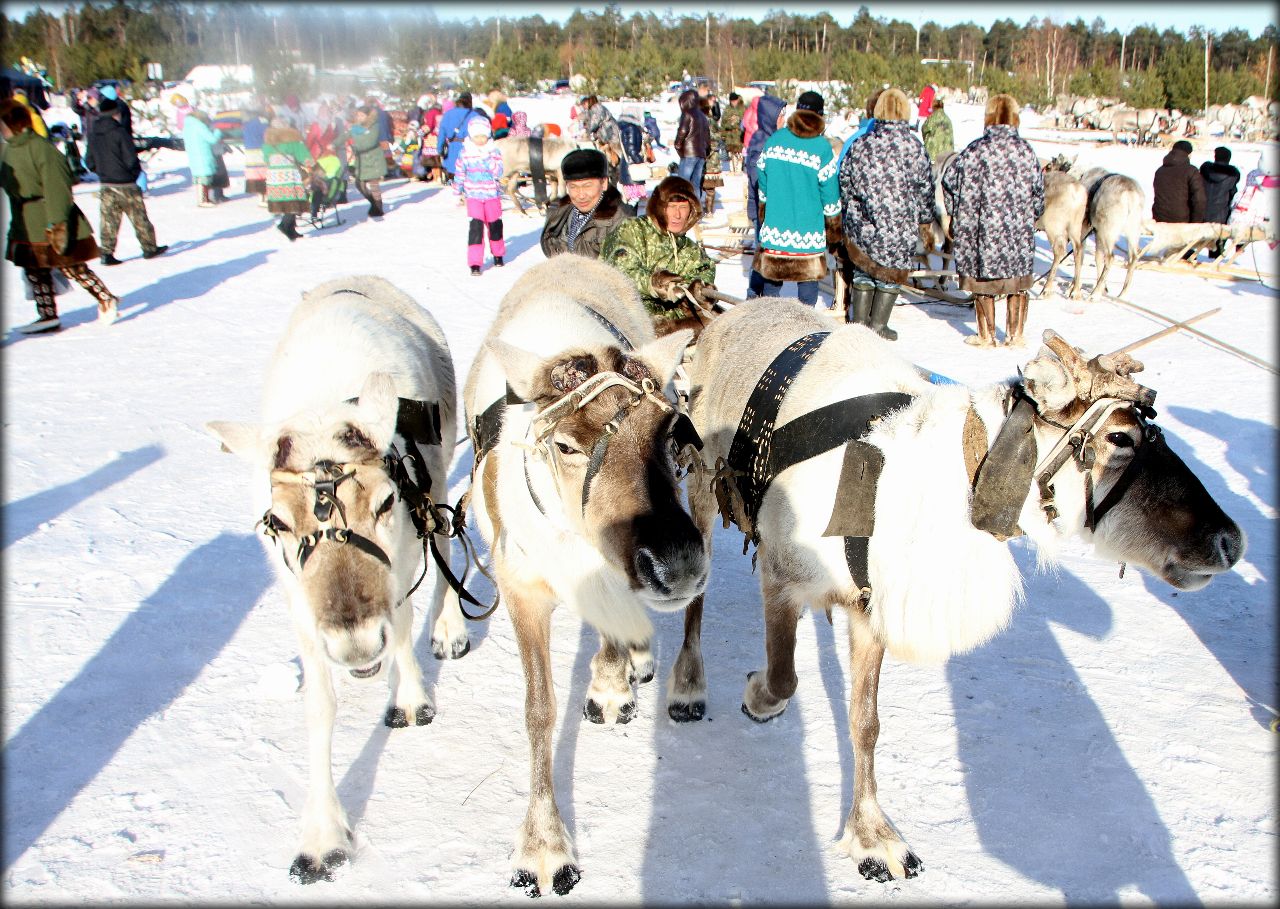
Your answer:
[[[1169,415],[1188,426],[1219,439],[1230,439],[1225,453],[1228,463],[1249,481],[1249,492],[1265,506],[1276,508],[1276,429],[1257,420],[1199,411],[1190,407],[1169,407]],[[1233,570],[1215,577],[1207,588],[1179,591],[1160,579],[1142,572],[1142,583],[1161,603],[1176,612],[1196,634],[1204,649],[1240,686],[1249,712],[1263,727],[1280,714],[1280,680],[1276,677],[1276,570],[1275,517],[1266,515],[1254,502],[1226,485],[1220,474],[1207,467],[1167,431],[1169,440],[1180,457],[1208,490],[1222,511],[1248,536],[1244,558],[1257,568],[1260,580],[1245,581]]]

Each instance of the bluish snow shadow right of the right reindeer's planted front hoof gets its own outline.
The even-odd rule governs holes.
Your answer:
[[[1027,548],[1014,556],[1028,602],[1004,632],[946,666],[982,850],[1068,905],[1119,904],[1129,887],[1160,905],[1199,904],[1160,810],[1053,634],[1101,640],[1110,604],[1068,572],[1033,577]],[[920,858],[928,867],[946,857]]]

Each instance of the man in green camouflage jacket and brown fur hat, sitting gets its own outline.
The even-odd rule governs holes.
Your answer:
[[[600,248],[602,260],[635,282],[659,335],[701,330],[701,318],[684,302],[686,287],[699,302],[703,291],[716,289],[716,262],[685,236],[701,214],[692,183],[672,174],[653,191],[645,216],[622,221]]]

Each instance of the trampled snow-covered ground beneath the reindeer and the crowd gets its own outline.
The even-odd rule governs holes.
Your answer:
[[[954,117],[959,141],[978,134],[975,109]],[[1044,156],[1059,147],[1037,140]],[[1254,152],[1238,151],[1242,169]],[[540,223],[508,213],[508,265],[476,279],[448,191],[393,183],[380,223],[357,202],[289,243],[253,198],[197,209],[183,155],[164,154],[147,205],[170,252],[141,260],[125,225],[124,265],[97,269],[122,297],[119,323],[99,326],[76,288],[59,301],[60,334],[4,342],[3,895],[522,901],[507,878],[527,796],[524,681],[503,611],[470,629],[466,658],[436,662],[419,609],[439,711],[429,727],[388,730],[384,685],[339,680],[334,768],[357,850],[332,883],[289,881],[306,787],[296,648],[253,539],[248,470],[202,425],[256,417],[298,294],[344,274],[412,293],[443,324],[461,379],[503,293],[543,260]],[[1105,163],[1149,191],[1161,154],[1091,146],[1078,166]],[[730,178],[730,209],[741,189]],[[77,197],[96,224],[92,187]],[[742,268],[721,264],[719,287],[745,293]],[[33,307],[3,269],[9,328]],[[1197,328],[1280,362],[1276,296],[1258,283],[1144,270],[1130,298],[1175,319],[1221,307]],[[963,344],[964,309],[905,305],[892,324],[904,356],[965,382],[1034,353]],[[1046,298],[1027,335],[1052,326],[1092,353],[1164,325],[1105,300],[1073,314]],[[1275,375],[1184,333],[1135,355],[1170,444],[1248,533],[1248,553],[1180,594],[1120,577],[1083,545],[1037,572],[1015,542],[1028,597],[1006,632],[941,667],[886,661],[879,795],[923,874],[872,883],[835,849],[854,773],[842,616],[838,629],[820,612],[801,620],[800,689],[781,718],[740,713],[744,676],[763,663],[760,599],[740,535],[717,530],[703,722],[666,713],[678,616],[657,621],[658,677],[613,728],[581,718],[595,635],[554,617],[556,780],[582,868],[564,901],[1274,903]],[[470,456],[457,446],[454,495]]]

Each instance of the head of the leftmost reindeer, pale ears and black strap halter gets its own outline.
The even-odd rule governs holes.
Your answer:
[[[408,608],[401,602],[421,553],[384,460],[398,403],[392,378],[375,373],[358,403],[303,411],[274,426],[207,424],[269,476],[255,490],[266,494],[259,525],[285,568],[300,630],[360,679],[385,662],[393,611]]]

